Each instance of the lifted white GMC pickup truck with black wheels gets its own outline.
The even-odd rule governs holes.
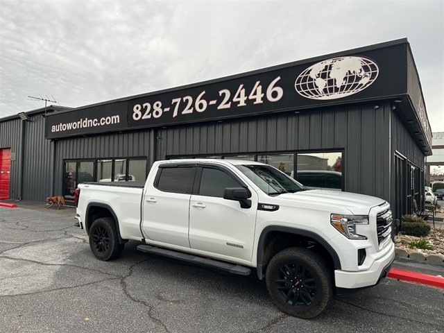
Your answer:
[[[395,257],[385,200],[307,190],[259,162],[157,161],[144,185],[78,185],[76,207],[101,260],[133,239],[144,253],[253,270],[282,311],[302,318],[321,314],[334,293],[379,283]]]

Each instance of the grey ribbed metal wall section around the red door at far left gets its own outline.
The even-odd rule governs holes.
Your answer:
[[[0,148],[11,149],[9,197],[22,196],[22,126],[26,125],[21,119],[0,121]]]

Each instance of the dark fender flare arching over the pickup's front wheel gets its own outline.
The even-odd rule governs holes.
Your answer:
[[[328,244],[325,239],[323,239],[318,234],[315,234],[314,232],[297,229],[297,228],[290,228],[290,227],[282,227],[279,225],[271,225],[269,227],[264,228],[262,230],[261,236],[259,237],[259,243],[257,244],[257,276],[259,277],[259,280],[262,280],[262,271],[263,271],[263,265],[262,265],[262,249],[264,248],[264,243],[266,236],[269,232],[273,231],[279,231],[279,232],[285,232],[287,234],[297,234],[300,236],[310,237],[311,239],[314,239],[317,241],[327,252],[332,256],[334,268],[335,269],[341,269],[341,260],[339,260],[339,255],[336,253],[334,248],[330,244]]]

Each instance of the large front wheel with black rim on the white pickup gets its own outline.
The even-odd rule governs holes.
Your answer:
[[[300,318],[321,314],[333,296],[332,270],[306,248],[287,248],[266,269],[266,287],[281,311]]]

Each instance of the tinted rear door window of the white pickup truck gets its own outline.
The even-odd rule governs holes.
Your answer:
[[[194,167],[160,168],[155,187],[164,192],[191,194]]]

